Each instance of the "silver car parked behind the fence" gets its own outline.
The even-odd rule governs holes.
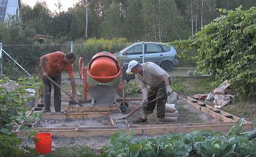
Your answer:
[[[145,43],[145,62],[154,62],[165,71],[171,71],[173,66],[178,66],[177,52],[172,46],[161,42]],[[119,56],[124,57],[125,62],[136,60],[142,63],[142,42],[136,42],[120,51]]]

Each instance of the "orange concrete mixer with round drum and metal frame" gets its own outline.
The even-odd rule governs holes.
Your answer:
[[[97,103],[112,103],[113,100],[116,101],[119,98],[119,95],[116,91],[109,85],[96,85],[91,87],[87,84],[87,75],[93,78],[97,82],[108,83],[118,78],[119,76],[122,79],[120,86],[122,86],[123,92],[123,102],[124,102],[124,76],[123,76],[123,67],[121,68],[119,62],[116,60],[116,56],[110,52],[99,52],[93,56],[88,66],[84,66],[83,58],[79,59],[78,62],[80,78],[83,79],[83,97],[84,101],[87,101],[87,91],[90,92],[93,101]],[[120,89],[119,86],[119,89]],[[97,105],[97,104],[96,104]]]

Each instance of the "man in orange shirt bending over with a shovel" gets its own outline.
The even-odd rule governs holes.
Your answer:
[[[76,94],[76,83],[74,79],[73,63],[76,61],[76,55],[73,52],[63,54],[57,51],[51,54],[41,56],[40,64],[42,66],[42,80],[44,82],[44,101],[45,112],[51,112],[51,81],[47,79],[49,76],[54,82],[61,85],[61,71],[67,71],[70,76],[70,84],[72,94],[70,99],[74,99]],[[54,85],[54,109],[55,112],[61,112],[61,89]]]

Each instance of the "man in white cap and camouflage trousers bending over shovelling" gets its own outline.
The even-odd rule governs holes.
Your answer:
[[[165,119],[165,103],[167,96],[172,93],[170,88],[170,81],[168,73],[160,68],[153,62],[146,62],[145,64],[139,64],[139,62],[133,60],[128,64],[126,73],[133,72],[136,74],[136,79],[142,88],[142,108],[143,115],[137,121],[133,123],[143,123],[147,121],[147,115],[153,113],[153,109],[157,104],[157,121],[162,123]],[[147,86],[150,86],[149,92],[147,92]],[[167,93],[167,95],[165,95]],[[157,102],[148,103],[155,98],[162,95],[162,99]]]

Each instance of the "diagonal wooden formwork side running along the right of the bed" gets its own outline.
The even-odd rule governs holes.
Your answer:
[[[193,102],[189,101],[188,99],[185,99],[185,102],[188,102],[190,105],[194,106],[196,109],[199,109],[199,111],[202,111],[202,112],[207,113],[208,115],[211,115],[213,118],[219,119],[223,122],[235,122],[230,118],[227,118],[219,113],[212,111],[211,109],[208,109],[206,107],[198,105],[198,103],[193,103]]]

